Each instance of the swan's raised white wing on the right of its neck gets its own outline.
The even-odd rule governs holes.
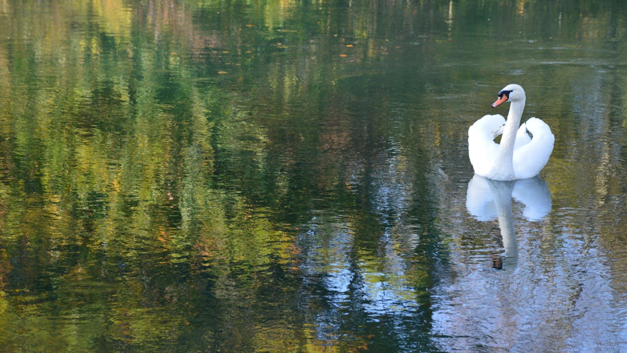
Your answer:
[[[551,128],[542,120],[531,118],[525,124],[533,138],[528,144],[514,150],[514,172],[518,179],[537,176],[549,161],[555,142]]]

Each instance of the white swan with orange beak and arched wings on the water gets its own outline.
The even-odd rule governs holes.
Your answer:
[[[525,108],[525,90],[520,85],[505,86],[492,108],[504,102],[511,102],[507,122],[500,114],[485,115],[468,129],[470,163],[475,174],[497,181],[537,176],[549,161],[555,136],[549,125],[535,117],[519,127]],[[494,139],[500,134],[497,144]]]

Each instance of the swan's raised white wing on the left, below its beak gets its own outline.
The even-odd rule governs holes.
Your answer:
[[[485,175],[490,171],[498,152],[494,138],[503,133],[503,125],[502,115],[485,115],[468,129],[468,156],[475,173]]]

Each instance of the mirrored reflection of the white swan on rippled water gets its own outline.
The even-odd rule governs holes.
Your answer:
[[[466,192],[468,213],[479,221],[498,218],[505,248],[503,256],[514,268],[518,249],[514,234],[512,197],[524,204],[522,214],[529,221],[537,221],[551,211],[551,193],[540,176],[517,181],[494,181],[475,174],[468,182]]]

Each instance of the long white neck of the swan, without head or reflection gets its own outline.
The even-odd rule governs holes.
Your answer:
[[[498,148],[498,154],[492,165],[493,179],[496,180],[514,180],[514,143],[516,142],[516,133],[520,125],[520,117],[525,108],[525,98],[512,102],[510,111],[507,114],[507,122],[503,128],[503,136]]]

